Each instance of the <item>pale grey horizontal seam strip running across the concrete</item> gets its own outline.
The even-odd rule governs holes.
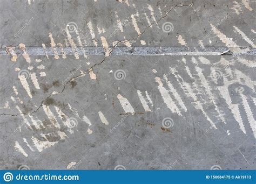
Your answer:
[[[232,52],[231,47],[109,47],[113,49],[111,55],[256,55],[256,48],[253,47],[232,47],[240,48],[247,52]],[[63,51],[66,55],[74,55],[72,47],[56,47],[58,55]],[[17,55],[22,55],[21,49],[15,47]],[[26,47],[26,52],[31,56],[55,55],[52,47]],[[103,47],[77,47],[78,55],[104,55]],[[0,49],[1,55],[10,55],[4,48]]]

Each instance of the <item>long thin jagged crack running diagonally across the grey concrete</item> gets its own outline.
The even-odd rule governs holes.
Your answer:
[[[66,82],[65,86],[63,87],[63,89],[62,89],[60,92],[55,93],[55,94],[51,94],[51,95],[49,95],[48,97],[44,98],[44,100],[41,102],[41,104],[39,105],[39,107],[38,107],[37,109],[35,109],[35,110],[29,110],[29,111],[27,111],[27,112],[25,112],[25,113],[18,113],[18,114],[14,114],[14,115],[12,115],[12,114],[4,114],[4,113],[3,113],[3,114],[1,114],[0,116],[2,116],[2,115],[5,115],[5,116],[28,115],[28,114],[33,114],[33,113],[37,112],[37,111],[42,107],[42,105],[43,105],[49,98],[51,98],[52,96],[55,96],[55,95],[62,94],[63,91],[65,90],[66,86],[67,86],[71,81],[77,79],[78,77],[83,77],[83,76],[85,76],[86,73],[89,72],[91,69],[93,69],[93,68],[96,67],[96,66],[101,65],[101,64],[106,60],[106,58],[108,58],[109,56],[111,56],[111,53],[113,52],[114,48],[117,47],[118,44],[120,44],[120,43],[124,44],[124,43],[129,42],[129,41],[132,41],[132,40],[133,40],[133,41],[136,41],[140,36],[142,36],[142,34],[144,34],[148,29],[150,29],[150,27],[151,27],[152,25],[158,24],[162,19],[166,18],[166,17],[169,15],[169,13],[170,13],[173,9],[175,9],[175,8],[180,8],[180,7],[183,7],[183,6],[190,6],[190,7],[191,7],[191,6],[193,6],[193,4],[194,4],[194,0],[192,0],[189,5],[184,5],[184,4],[183,4],[183,5],[175,5],[175,6],[173,6],[169,11],[167,11],[167,13],[165,13],[165,15],[164,15],[163,17],[161,17],[161,18],[158,19],[156,22],[151,23],[149,26],[147,26],[147,27],[143,30],[142,33],[138,34],[138,36],[136,36],[136,37],[134,37],[134,38],[131,38],[131,39],[129,39],[129,40],[126,40],[126,41],[118,41],[118,42],[117,42],[115,45],[113,45],[113,47],[110,49],[110,52],[109,52],[108,56],[105,55],[105,56],[104,56],[104,59],[103,59],[102,61],[100,61],[99,63],[96,63],[95,65],[93,65],[93,66],[90,67],[89,69],[86,69],[86,71],[85,71],[83,74],[80,74],[80,75],[78,75],[78,76],[72,77],[68,82]],[[104,54],[105,54],[105,49],[104,49]]]

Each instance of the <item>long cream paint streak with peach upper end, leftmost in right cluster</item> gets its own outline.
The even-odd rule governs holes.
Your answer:
[[[172,113],[177,113],[179,116],[181,116],[181,113],[176,106],[176,104],[173,102],[171,96],[169,95],[169,91],[164,88],[163,83],[161,82],[161,79],[159,77],[155,78],[156,82],[158,83],[158,90],[161,94],[161,97],[164,100],[164,103],[166,104],[167,108],[169,108]]]

